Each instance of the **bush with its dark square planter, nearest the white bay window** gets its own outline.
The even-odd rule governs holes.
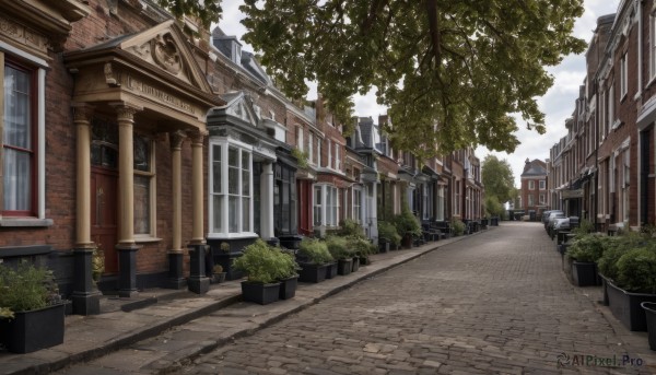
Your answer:
[[[280,295],[280,257],[282,253],[271,248],[261,238],[244,248],[244,254],[233,260],[233,267],[247,274],[242,281],[244,301],[266,305]]]

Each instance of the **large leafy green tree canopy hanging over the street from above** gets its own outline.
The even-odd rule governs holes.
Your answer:
[[[421,157],[483,144],[515,150],[519,114],[544,132],[544,70],[585,49],[583,0],[245,0],[244,39],[292,97],[317,81],[343,122],[377,89],[395,144]]]

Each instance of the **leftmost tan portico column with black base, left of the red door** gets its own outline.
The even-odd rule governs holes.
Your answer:
[[[99,292],[93,288],[92,258],[95,244],[91,241],[91,116],[93,108],[74,106],[77,128],[77,191],[75,191],[75,248],[73,249],[73,313],[99,314]]]

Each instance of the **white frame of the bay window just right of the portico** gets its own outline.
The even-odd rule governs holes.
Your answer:
[[[220,160],[220,168],[221,168],[221,190],[220,191],[213,191],[213,184],[214,184],[214,145],[219,145],[221,147],[221,160]],[[237,208],[237,231],[236,232],[230,232],[230,196],[231,194],[229,192],[229,183],[230,183],[230,176],[229,176],[229,150],[231,148],[237,149],[238,151],[238,156],[237,156],[237,161],[238,161],[238,187],[237,187],[237,191],[238,194],[236,195],[238,197],[238,208]],[[248,179],[247,181],[244,181],[244,165],[242,165],[242,154],[244,152],[247,152],[249,154],[249,164],[248,165],[248,175],[246,176],[246,178]],[[253,147],[230,138],[211,138],[210,142],[209,142],[209,150],[208,150],[208,165],[209,165],[209,173],[208,173],[208,222],[209,222],[209,234],[208,237],[209,238],[244,238],[244,237],[256,237],[257,234],[254,232],[254,185],[253,185]],[[249,196],[245,196],[243,195],[243,187],[244,185],[247,184],[250,188],[249,190]],[[235,196],[235,195],[233,195]],[[221,199],[221,225],[219,227],[216,227],[215,223],[214,223],[214,198],[219,197],[219,199]],[[249,203],[249,208],[248,208],[248,226],[249,227],[244,227],[244,209],[243,209],[243,199],[244,197],[247,197],[250,200]]]

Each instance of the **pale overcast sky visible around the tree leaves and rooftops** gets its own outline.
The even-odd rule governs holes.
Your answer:
[[[596,27],[597,19],[601,15],[614,13],[620,0],[585,0],[585,13],[576,22],[574,33],[576,36],[589,42],[593,31]],[[242,0],[227,0],[222,2],[223,17],[219,25],[227,35],[242,37],[245,27],[239,23],[244,15],[239,12]],[[213,26],[212,26],[213,27]],[[245,50],[253,51],[253,47],[244,45]],[[547,132],[542,136],[536,131],[526,130],[524,122],[519,121],[519,131],[517,137],[522,144],[517,147],[513,154],[494,153],[501,160],[507,160],[513,168],[517,187],[519,186],[519,175],[524,169],[526,159],[546,160],[549,157],[549,149],[557,143],[567,131],[565,129],[565,119],[572,116],[574,112],[574,101],[578,96],[578,87],[583,84],[585,78],[585,57],[584,55],[572,55],[563,59],[560,66],[549,68],[549,72],[555,78],[553,86],[547,92],[547,95],[538,99],[540,108],[547,115]],[[316,87],[314,87],[316,90]],[[316,93],[311,93],[308,98],[316,97]],[[355,115],[363,117],[373,117],[387,113],[385,107],[376,104],[374,92],[365,96],[356,95]],[[490,154],[485,148],[478,148],[476,154],[481,162]]]

